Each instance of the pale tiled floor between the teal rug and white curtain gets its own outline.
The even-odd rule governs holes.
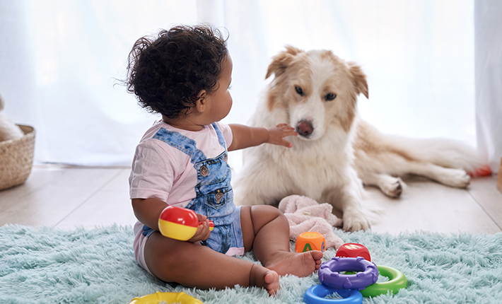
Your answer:
[[[0,226],[133,225],[129,170],[35,165],[25,184],[0,191]],[[502,193],[496,189],[496,177],[473,179],[467,189],[446,187],[422,177],[404,180],[407,187],[400,199],[366,188],[363,204],[380,210],[374,216],[373,232],[502,232]]]

